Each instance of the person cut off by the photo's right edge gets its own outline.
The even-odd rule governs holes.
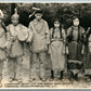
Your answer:
[[[84,75],[88,76],[87,81],[91,81],[91,27],[88,28],[87,32],[84,34],[87,39],[87,56],[86,56],[86,64],[84,64]],[[90,79],[89,79],[90,78]]]

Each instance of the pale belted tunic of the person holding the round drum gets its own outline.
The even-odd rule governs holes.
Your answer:
[[[14,26],[13,24],[10,24],[8,26],[8,46],[9,46],[8,49],[11,57],[17,57],[23,55],[24,44],[23,44],[23,41],[21,41],[17,38],[17,35],[22,35],[22,31],[20,34],[20,30],[22,30],[23,28],[25,28],[25,26],[22,24],[18,24],[16,26]]]

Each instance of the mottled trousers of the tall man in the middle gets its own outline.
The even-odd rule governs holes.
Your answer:
[[[31,79],[46,78],[47,52],[31,53]]]

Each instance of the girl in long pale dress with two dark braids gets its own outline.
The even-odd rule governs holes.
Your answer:
[[[54,21],[54,27],[51,28],[50,31],[51,31],[51,43],[49,48],[49,53],[52,61],[53,77],[55,79],[62,79],[63,72],[66,67],[65,66],[66,35],[65,30],[62,28],[60,20]]]

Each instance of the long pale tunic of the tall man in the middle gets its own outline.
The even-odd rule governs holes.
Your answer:
[[[47,44],[50,43],[48,23],[42,18],[39,22],[35,18],[29,23],[29,30],[32,32],[31,51],[47,51]]]

